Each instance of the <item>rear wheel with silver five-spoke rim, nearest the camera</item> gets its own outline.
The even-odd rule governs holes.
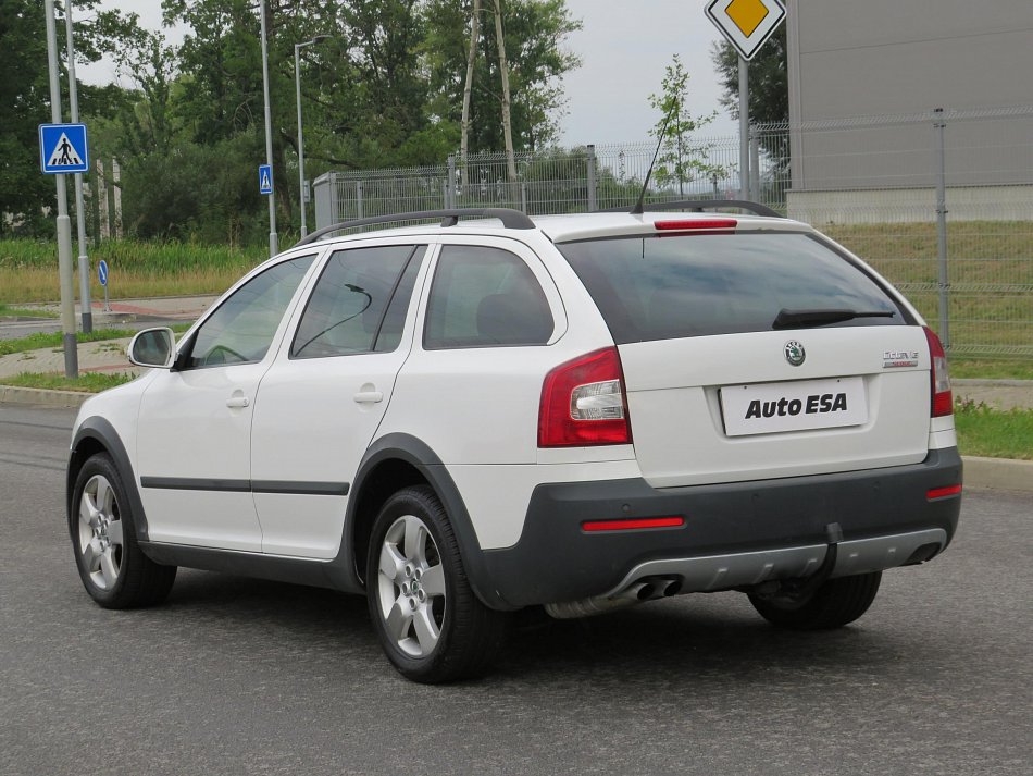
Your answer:
[[[501,650],[511,618],[474,594],[448,515],[430,488],[407,488],[384,504],[365,578],[377,639],[406,678],[473,678]]]

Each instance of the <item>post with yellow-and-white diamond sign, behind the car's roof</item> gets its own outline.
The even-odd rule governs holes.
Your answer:
[[[782,0],[711,0],[707,16],[739,53],[739,192],[749,199],[749,60],[785,19]]]

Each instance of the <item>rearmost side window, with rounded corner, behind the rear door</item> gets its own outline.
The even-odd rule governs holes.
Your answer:
[[[447,246],[427,303],[423,346],[544,345],[555,323],[534,273],[500,248]]]

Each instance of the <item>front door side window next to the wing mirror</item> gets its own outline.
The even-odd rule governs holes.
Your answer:
[[[261,361],[314,258],[281,261],[237,288],[198,329],[188,366]]]

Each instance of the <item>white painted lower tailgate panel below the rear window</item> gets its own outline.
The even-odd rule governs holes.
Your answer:
[[[786,359],[787,343],[804,364]],[[656,488],[921,461],[930,427],[920,327],[754,332],[620,346],[635,453]],[[887,353],[918,354],[913,367]],[[891,365],[891,366],[887,366]]]

